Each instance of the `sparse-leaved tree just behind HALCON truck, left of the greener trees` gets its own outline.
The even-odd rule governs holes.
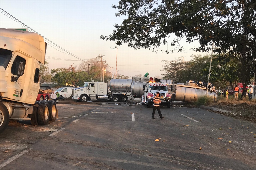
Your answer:
[[[183,62],[181,57],[175,58],[175,60],[168,61],[164,60],[165,66],[163,66],[163,70],[165,73],[163,75],[163,79],[174,80],[175,82],[183,82],[183,70],[186,69],[186,64]]]

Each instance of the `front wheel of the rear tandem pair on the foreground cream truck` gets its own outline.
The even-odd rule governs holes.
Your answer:
[[[49,104],[47,101],[40,101],[37,108],[37,122],[39,125],[47,125],[49,119]]]

